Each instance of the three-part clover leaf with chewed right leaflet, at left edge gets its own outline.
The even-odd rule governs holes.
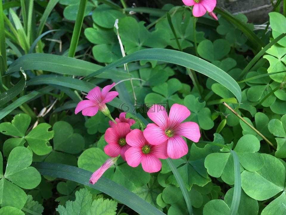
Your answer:
[[[1,133],[13,136],[13,138],[4,142],[3,151],[5,156],[8,156],[13,148],[23,146],[25,142],[37,155],[45,155],[52,151],[52,146],[47,145],[54,136],[54,131],[49,131],[51,125],[41,123],[25,135],[30,122],[31,117],[29,115],[20,113],[14,116],[11,123],[2,122],[0,124]]]

